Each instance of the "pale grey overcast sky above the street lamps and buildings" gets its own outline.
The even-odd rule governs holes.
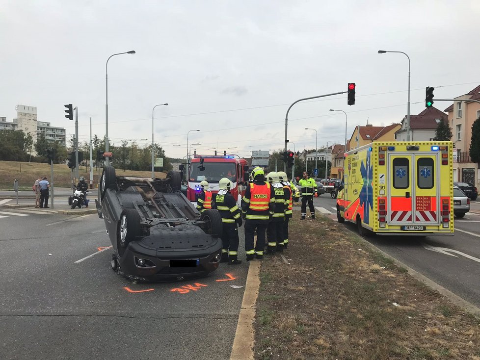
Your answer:
[[[189,144],[249,156],[283,149],[285,113],[305,97],[347,94],[298,103],[289,115],[291,150],[345,142],[357,125],[400,122],[425,109],[425,87],[437,99],[480,84],[476,40],[480,1],[70,1],[0,0],[0,116],[17,104],[36,106],[38,120],[64,127],[63,104],[78,106],[79,138],[108,134],[141,145],[155,142],[169,157]],[[447,102],[435,102],[444,110]],[[148,140],[140,140],[146,139]],[[180,146],[174,146],[180,145]]]

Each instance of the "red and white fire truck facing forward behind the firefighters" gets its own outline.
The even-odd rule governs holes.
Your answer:
[[[240,204],[248,185],[248,163],[238,155],[194,155],[187,172],[187,199],[196,202],[202,188],[200,182],[206,180],[213,196],[218,192],[218,181],[232,180],[230,193]]]

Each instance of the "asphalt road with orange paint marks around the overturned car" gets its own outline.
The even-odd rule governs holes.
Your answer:
[[[228,359],[247,262],[134,284],[98,252],[111,244],[95,214],[0,211],[0,359]]]

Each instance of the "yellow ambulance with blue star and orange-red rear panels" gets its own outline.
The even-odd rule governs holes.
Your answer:
[[[345,154],[337,219],[388,235],[453,235],[453,144],[375,142]]]

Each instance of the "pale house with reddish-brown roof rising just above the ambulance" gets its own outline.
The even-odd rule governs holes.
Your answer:
[[[442,119],[448,115],[443,111],[430,107],[418,115],[410,115],[410,141],[432,141]],[[407,116],[401,121],[401,128],[395,132],[397,141],[407,141]]]

